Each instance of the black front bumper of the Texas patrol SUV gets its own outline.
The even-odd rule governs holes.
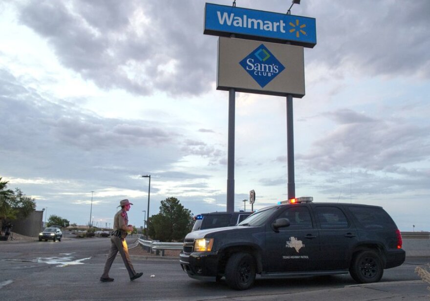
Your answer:
[[[179,254],[181,267],[191,278],[205,281],[216,280],[218,254],[216,252],[193,252]]]

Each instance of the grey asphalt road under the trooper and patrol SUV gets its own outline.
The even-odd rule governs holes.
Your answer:
[[[385,270],[381,282],[366,287],[357,286],[345,275],[257,279],[252,289],[235,291],[223,280],[190,279],[176,258],[132,256],[135,270],[144,272],[144,276],[130,281],[117,256],[109,273],[115,281],[101,282],[109,243],[108,238],[69,237],[61,242],[0,242],[0,300],[314,300],[315,296],[319,300],[338,300],[336,294],[339,300],[376,300],[385,290],[406,295],[402,300],[428,300],[430,293],[427,284],[414,273],[416,266],[426,266],[430,258],[407,258],[402,266]],[[368,299],[357,295],[364,294],[364,288]]]

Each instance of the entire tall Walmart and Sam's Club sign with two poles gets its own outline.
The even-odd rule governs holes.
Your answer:
[[[216,89],[229,91],[229,212],[235,202],[236,91],[286,97],[288,198],[296,195],[293,97],[305,95],[303,47],[313,48],[317,34],[314,18],[293,16],[290,9],[280,14],[236,7],[236,1],[233,7],[205,5],[204,34],[219,36]]]

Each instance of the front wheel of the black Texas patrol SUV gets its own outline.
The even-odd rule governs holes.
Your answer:
[[[235,253],[225,267],[225,281],[233,289],[245,290],[254,284],[256,264],[248,253]]]

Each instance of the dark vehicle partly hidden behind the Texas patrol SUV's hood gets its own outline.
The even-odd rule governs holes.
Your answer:
[[[194,216],[193,230],[213,229],[220,227],[236,226],[252,212],[211,212]]]

